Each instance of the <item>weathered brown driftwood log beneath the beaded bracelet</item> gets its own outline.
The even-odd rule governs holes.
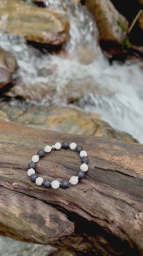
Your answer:
[[[30,182],[31,157],[65,140],[88,152],[85,179],[66,190]],[[72,150],[52,150],[36,172],[61,181],[80,161]],[[143,145],[0,122],[0,234],[74,255],[143,255]]]

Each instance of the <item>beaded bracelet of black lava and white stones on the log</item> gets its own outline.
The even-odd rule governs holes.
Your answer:
[[[50,153],[52,149],[60,149],[60,148],[64,148],[64,149],[76,149],[76,152],[80,154],[81,157],[81,165],[80,165],[80,171],[77,172],[76,176],[72,176],[70,177],[70,180],[62,180],[61,182],[54,180],[51,182],[51,180],[43,180],[42,177],[38,177],[37,174],[35,174],[35,167],[38,161],[39,161],[39,157],[43,157],[46,153]],[[69,187],[69,184],[75,185],[78,183],[79,179],[84,178],[85,176],[85,172],[88,170],[88,157],[87,157],[87,153],[85,150],[83,150],[83,147],[81,146],[77,146],[75,143],[71,143],[69,144],[67,141],[64,141],[62,144],[57,142],[55,145],[47,145],[45,146],[44,150],[40,149],[37,152],[37,155],[32,156],[32,162],[29,163],[28,167],[28,176],[30,176],[30,180],[32,182],[35,182],[37,185],[43,185],[45,188],[50,188],[52,187],[53,189],[58,189],[59,186],[61,186],[61,188],[66,189]]]

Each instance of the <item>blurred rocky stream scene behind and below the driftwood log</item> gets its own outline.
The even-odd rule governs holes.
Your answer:
[[[0,0],[0,120],[143,143],[143,0]],[[0,237],[1,256],[68,256]]]

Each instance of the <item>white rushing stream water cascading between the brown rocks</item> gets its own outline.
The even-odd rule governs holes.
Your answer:
[[[47,8],[60,10],[70,23],[70,40],[60,53],[41,53],[24,39],[0,34],[0,46],[17,60],[18,70],[13,75],[17,83],[36,84],[56,88],[55,94],[46,96],[35,104],[65,103],[63,94],[67,85],[77,85],[77,90],[90,85],[74,105],[95,112],[113,128],[125,131],[143,143],[143,62],[132,58],[125,63],[104,57],[94,18],[84,6],[74,6],[70,1],[45,1]],[[79,88],[80,87],[80,88]],[[75,88],[75,87],[74,87]],[[96,88],[96,92],[95,92]],[[94,92],[94,93],[93,93]],[[34,90],[32,92],[34,94]],[[75,92],[76,93],[76,92]]]

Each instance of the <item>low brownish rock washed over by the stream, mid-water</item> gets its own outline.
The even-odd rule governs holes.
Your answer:
[[[17,84],[10,88],[8,92],[4,93],[4,95],[12,98],[16,97],[17,99],[45,99],[51,102],[61,101],[64,103],[71,103],[88,93],[102,93],[102,89],[100,89],[95,82],[91,81],[90,78],[88,79],[88,77],[85,81],[83,81],[83,79],[81,79],[81,81],[76,81],[75,77],[73,77],[73,79],[69,79],[69,82],[68,80],[64,81],[63,87],[58,86],[56,73],[49,80],[49,83]],[[108,90],[104,89],[104,91],[107,91],[107,94],[110,94]]]

